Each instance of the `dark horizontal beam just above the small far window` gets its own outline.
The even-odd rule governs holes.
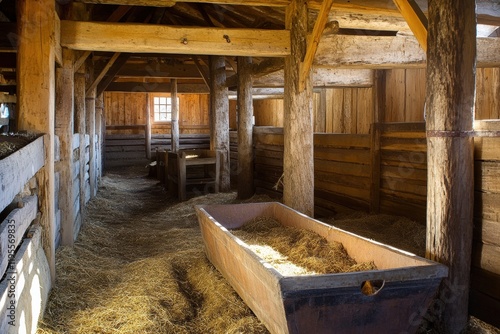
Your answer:
[[[106,88],[108,92],[133,92],[133,93],[170,93],[170,83],[158,82],[112,82]],[[179,94],[208,94],[207,86],[203,84],[177,84]]]

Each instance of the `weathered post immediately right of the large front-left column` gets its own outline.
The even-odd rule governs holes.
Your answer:
[[[73,51],[62,50],[63,66],[56,70],[56,134],[60,141],[59,210],[61,210],[61,244],[73,246],[75,212],[73,198],[73,131],[74,131],[74,70]]]

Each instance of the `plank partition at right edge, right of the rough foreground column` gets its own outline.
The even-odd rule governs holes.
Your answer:
[[[474,123],[470,313],[500,327],[500,121]]]

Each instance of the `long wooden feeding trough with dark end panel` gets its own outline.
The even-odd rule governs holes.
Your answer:
[[[448,268],[309,218],[280,203],[196,206],[208,259],[271,333],[413,333]],[[256,217],[341,242],[378,270],[283,276],[230,230]],[[361,291],[370,281],[381,288]]]

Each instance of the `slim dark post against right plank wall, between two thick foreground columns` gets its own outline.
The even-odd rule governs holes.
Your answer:
[[[371,184],[370,184],[370,212],[380,212],[380,135],[383,113],[385,110],[385,70],[375,72],[373,86],[373,121],[370,129],[371,138]]]

